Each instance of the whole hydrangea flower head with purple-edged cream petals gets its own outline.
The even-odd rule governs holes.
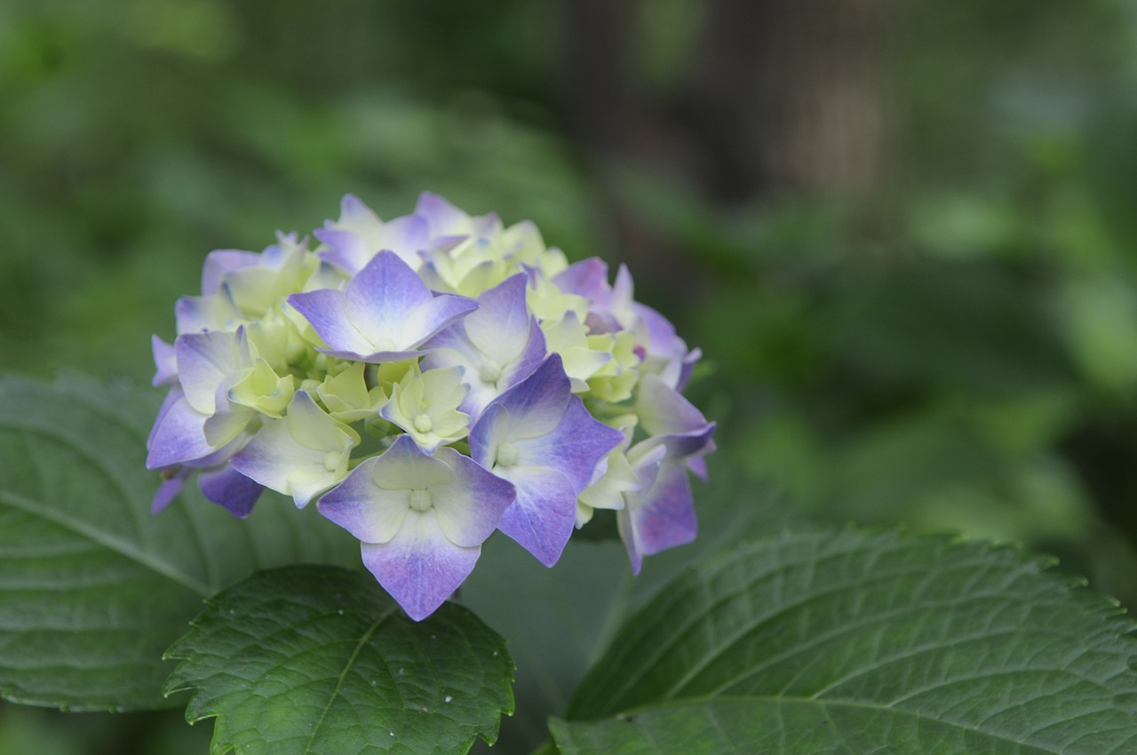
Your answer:
[[[192,474],[236,516],[264,488],[318,499],[416,620],[493,530],[551,566],[615,509],[637,573],[695,537],[687,473],[706,474],[714,423],[681,391],[699,352],[626,268],[609,283],[533,224],[430,193],[387,222],[348,196],[313,235],[211,252],[174,342],[155,337],[155,512]]]

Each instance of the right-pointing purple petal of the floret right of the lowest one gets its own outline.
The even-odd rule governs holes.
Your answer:
[[[596,420],[573,396],[553,432],[517,443],[520,463],[561,472],[579,493],[591,482],[596,465],[623,439],[621,431]]]

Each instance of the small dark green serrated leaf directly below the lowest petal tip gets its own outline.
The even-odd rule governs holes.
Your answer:
[[[416,623],[370,574],[259,572],[192,625],[166,689],[217,717],[215,755],[465,753],[513,713],[505,640],[453,603]]]

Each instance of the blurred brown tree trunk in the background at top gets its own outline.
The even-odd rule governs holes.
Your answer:
[[[565,0],[578,132],[601,183],[605,164],[679,176],[716,206],[763,194],[871,198],[887,181],[891,0],[707,0],[670,91],[645,91],[636,0]],[[612,201],[611,188],[604,201]],[[624,256],[658,255],[626,211]]]

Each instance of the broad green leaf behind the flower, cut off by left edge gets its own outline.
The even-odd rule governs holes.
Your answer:
[[[358,562],[316,512],[265,496],[246,521],[194,486],[158,516],[150,388],[0,380],[0,695],[69,710],[171,707],[163,652],[256,569]]]

